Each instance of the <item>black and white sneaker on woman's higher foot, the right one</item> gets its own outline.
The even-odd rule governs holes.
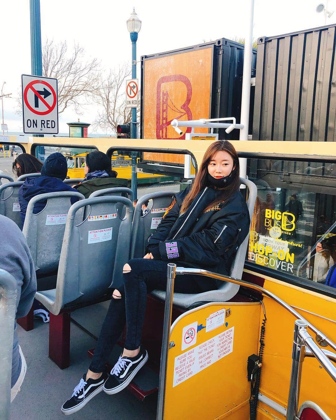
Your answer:
[[[117,394],[117,392],[126,388],[147,360],[148,353],[143,346],[140,346],[138,356],[120,356],[111,370],[111,376],[104,383],[104,392],[106,392],[106,394]]]

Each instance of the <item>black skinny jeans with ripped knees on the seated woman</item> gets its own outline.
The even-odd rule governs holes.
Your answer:
[[[125,349],[135,350],[141,344],[143,321],[145,318],[147,293],[154,289],[166,290],[167,264],[159,260],[135,258],[128,261],[131,271],[123,274],[124,290],[120,290],[121,299],[112,297],[98,343],[89,369],[100,373],[105,370],[109,354],[120,338],[127,324]],[[176,276],[174,291],[177,293],[201,293],[195,281],[197,275]],[[217,289],[209,278],[208,290]]]

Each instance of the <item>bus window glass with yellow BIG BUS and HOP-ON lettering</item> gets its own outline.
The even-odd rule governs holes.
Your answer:
[[[247,260],[330,291],[326,281],[336,263],[336,165],[251,159],[248,176],[258,197]]]

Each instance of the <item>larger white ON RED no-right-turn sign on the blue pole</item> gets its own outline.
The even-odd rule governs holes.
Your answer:
[[[57,134],[57,79],[22,75],[23,132]]]

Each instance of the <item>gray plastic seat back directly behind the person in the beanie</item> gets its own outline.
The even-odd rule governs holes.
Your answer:
[[[22,232],[27,240],[37,275],[57,270],[65,223],[59,224],[57,218],[51,216],[65,215],[65,222],[72,197],[84,199],[83,194],[79,192],[62,191],[36,195],[28,203]],[[34,205],[42,200],[47,200],[47,205],[39,213],[34,214]]]

